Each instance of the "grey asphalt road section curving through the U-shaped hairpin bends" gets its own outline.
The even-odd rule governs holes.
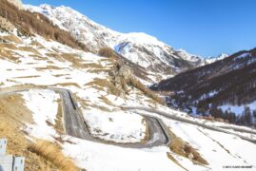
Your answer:
[[[31,89],[31,88],[30,88]],[[40,89],[40,88],[34,88]],[[63,116],[64,116],[64,129],[69,136],[88,140],[91,142],[104,142],[90,135],[87,123],[83,118],[83,115],[74,99],[72,94],[68,89],[63,88],[53,88],[49,87],[47,89],[53,90],[61,95]],[[22,91],[28,91],[29,89],[15,90],[9,92],[0,92],[0,95],[11,95]],[[152,146],[167,145],[171,142],[171,139],[167,133],[167,127],[161,120],[142,115],[148,122],[148,132],[149,140],[145,143],[117,143],[108,142],[111,144],[119,145],[122,147],[130,148],[147,148]]]

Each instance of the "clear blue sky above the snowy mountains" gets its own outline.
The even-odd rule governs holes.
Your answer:
[[[174,48],[216,56],[256,47],[255,0],[23,0],[65,5],[121,32],[146,32]]]

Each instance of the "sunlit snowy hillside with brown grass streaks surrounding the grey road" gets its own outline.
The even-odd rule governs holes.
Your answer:
[[[111,59],[72,49],[39,36],[19,37],[15,33],[4,31],[0,32],[0,36],[6,42],[0,44],[0,94],[17,89],[35,88],[21,92],[33,119],[32,124],[26,123],[25,127],[21,127],[28,133],[26,138],[33,141],[36,138],[46,139],[59,143],[63,147],[63,152],[81,168],[89,171],[203,171],[222,170],[224,165],[238,164],[255,169],[256,161],[253,157],[256,148],[252,142],[242,140],[233,134],[176,122],[157,113],[123,110],[120,106],[146,106],[211,126],[231,126],[227,123],[191,118],[186,113],[156,103],[133,87],[128,87],[128,93],[124,96],[116,94],[118,91],[113,91],[116,87],[110,86],[108,74],[115,65]],[[167,145],[134,149],[60,135],[51,125],[55,123],[57,117],[56,101],[60,96],[54,91],[44,89],[51,86],[68,88],[73,92],[76,101],[81,104],[80,108],[93,136],[106,141],[140,142],[145,135],[145,123],[142,121],[143,117],[138,114],[147,114],[161,119],[169,131],[195,148],[208,165],[197,164],[185,156],[178,155]],[[41,89],[36,89],[38,87]],[[240,126],[234,128],[248,130]],[[94,131],[95,129],[102,134]],[[255,140],[255,133],[241,134]],[[169,159],[167,154],[174,160]]]

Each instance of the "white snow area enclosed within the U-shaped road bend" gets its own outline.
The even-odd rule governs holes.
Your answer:
[[[141,142],[145,138],[146,121],[139,115],[98,109],[84,109],[83,114],[94,137],[114,142]]]

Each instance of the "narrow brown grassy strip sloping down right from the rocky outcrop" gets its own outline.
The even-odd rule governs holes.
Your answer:
[[[155,92],[151,91],[148,87],[146,87],[145,85],[140,83],[137,79],[130,78],[128,80],[128,85],[132,85],[132,86],[138,88],[139,90],[144,92],[144,94],[146,96],[148,96],[149,98],[153,99],[157,103],[166,105],[166,103],[164,102],[164,100],[161,97],[159,97]]]

